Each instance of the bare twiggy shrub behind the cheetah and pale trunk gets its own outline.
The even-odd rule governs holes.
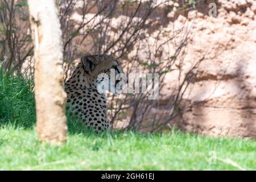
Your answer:
[[[179,11],[195,5],[194,1],[181,2]],[[63,31],[66,78],[74,68],[74,61],[90,53],[112,54],[122,61],[126,73],[159,74],[158,99],[148,100],[149,93],[108,93],[109,118],[114,127],[155,131],[187,109],[183,95],[203,58],[184,69],[181,55],[189,41],[189,25],[184,22],[182,26],[168,26],[174,19],[169,15],[177,11],[177,3],[57,0],[56,4]],[[0,30],[6,31],[0,35],[1,60],[6,60],[7,68],[13,65],[20,71],[32,53],[26,2],[0,0],[0,8],[4,10],[0,13]],[[171,96],[162,103],[164,78],[170,72],[175,72],[177,77],[175,84],[170,83]]]

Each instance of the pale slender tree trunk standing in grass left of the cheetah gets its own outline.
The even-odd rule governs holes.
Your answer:
[[[63,45],[54,0],[28,0],[35,49],[36,131],[41,142],[61,144],[67,125]]]

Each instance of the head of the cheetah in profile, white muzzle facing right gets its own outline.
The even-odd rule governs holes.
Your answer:
[[[123,73],[118,61],[110,55],[88,55],[81,58],[86,74],[92,77],[98,92],[108,90],[112,93],[121,93],[127,77]]]

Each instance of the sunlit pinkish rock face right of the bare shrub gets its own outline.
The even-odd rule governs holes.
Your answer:
[[[181,116],[183,122],[171,123],[200,134],[255,138],[256,1],[218,1],[217,7],[217,17],[199,9],[174,22],[193,21],[185,62],[202,55],[205,60],[186,96],[191,109]],[[175,81],[172,73],[170,81]]]

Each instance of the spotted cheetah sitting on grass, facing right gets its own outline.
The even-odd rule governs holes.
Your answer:
[[[110,79],[111,69],[116,77],[119,76],[114,81]],[[118,84],[122,90],[127,81],[123,75],[118,61],[110,55],[81,57],[80,63],[64,86],[71,113],[86,123],[88,129],[91,128],[97,133],[109,130],[106,96],[99,90],[108,89],[112,93],[118,93]]]

